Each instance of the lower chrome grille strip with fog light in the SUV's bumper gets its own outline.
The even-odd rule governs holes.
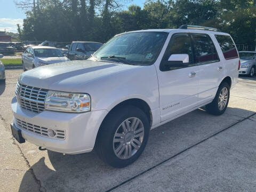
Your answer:
[[[42,127],[39,125],[34,125],[31,123],[27,123],[25,121],[21,121],[18,118],[15,118],[15,124],[20,129],[33,132],[37,135],[41,135],[43,137],[53,138],[53,139],[65,139],[65,131],[64,130],[57,130],[57,129],[48,129],[46,127]]]

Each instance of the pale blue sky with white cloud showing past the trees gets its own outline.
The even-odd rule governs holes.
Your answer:
[[[19,0],[0,0],[0,31],[10,31],[17,33],[17,24],[22,26],[23,19],[26,18],[25,11],[18,9],[14,2]],[[126,7],[136,4],[143,7],[145,0],[126,0]]]

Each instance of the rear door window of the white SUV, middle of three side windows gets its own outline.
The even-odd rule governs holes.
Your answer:
[[[212,39],[206,34],[191,34],[194,42],[195,60],[197,65],[218,62],[219,57]]]

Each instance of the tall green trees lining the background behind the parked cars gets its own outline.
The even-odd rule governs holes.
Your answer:
[[[26,12],[22,39],[98,41],[125,31],[178,28],[183,24],[216,27],[237,44],[255,47],[256,0],[146,0],[143,9],[113,0],[38,0]]]

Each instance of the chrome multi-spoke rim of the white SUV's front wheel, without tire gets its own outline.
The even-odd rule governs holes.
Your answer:
[[[144,138],[144,126],[137,117],[125,119],[118,126],[113,139],[115,155],[121,159],[129,159],[139,150]]]

